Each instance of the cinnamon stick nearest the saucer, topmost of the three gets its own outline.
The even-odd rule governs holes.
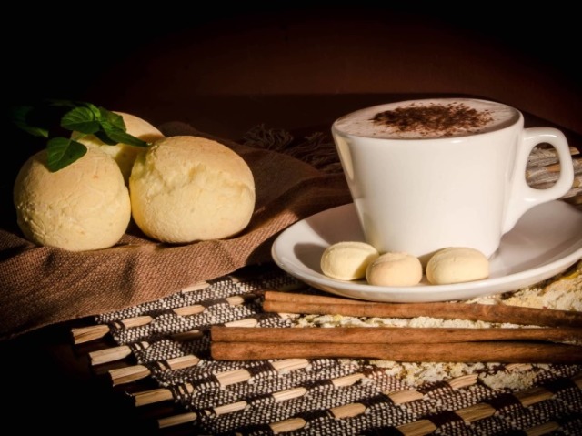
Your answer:
[[[383,303],[266,291],[266,312],[352,317],[467,319],[550,327],[582,327],[582,312],[459,302]]]

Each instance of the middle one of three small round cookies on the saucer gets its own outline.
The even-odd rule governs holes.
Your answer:
[[[404,252],[387,252],[371,262],[366,280],[377,286],[414,286],[422,279],[422,264],[415,256]]]

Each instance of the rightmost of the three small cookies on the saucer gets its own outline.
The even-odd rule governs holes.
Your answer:
[[[464,283],[488,277],[489,259],[475,248],[443,248],[426,264],[426,279],[433,285]]]

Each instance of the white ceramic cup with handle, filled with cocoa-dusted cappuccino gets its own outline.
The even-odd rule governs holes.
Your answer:
[[[424,123],[426,115],[432,121]],[[432,131],[433,125],[441,128]],[[338,118],[332,135],[366,242],[423,262],[447,247],[491,257],[528,209],[561,198],[574,180],[560,130],[525,128],[521,112],[492,101],[367,107]],[[556,148],[560,174],[551,188],[534,189],[527,185],[527,158],[542,143]]]

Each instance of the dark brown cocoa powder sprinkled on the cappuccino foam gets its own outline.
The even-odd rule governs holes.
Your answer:
[[[372,121],[395,132],[426,136],[450,137],[458,132],[477,133],[493,117],[489,111],[478,111],[463,103],[428,106],[406,106],[377,113]]]

